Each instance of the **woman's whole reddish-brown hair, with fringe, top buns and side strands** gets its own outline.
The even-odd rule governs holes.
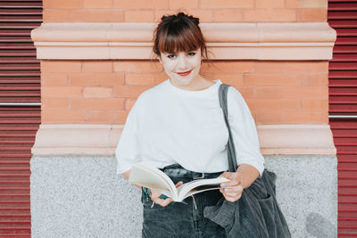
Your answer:
[[[198,18],[184,12],[162,16],[162,21],[154,29],[153,52],[160,57],[162,52],[188,52],[201,48],[201,56],[208,60],[206,42],[199,23]]]

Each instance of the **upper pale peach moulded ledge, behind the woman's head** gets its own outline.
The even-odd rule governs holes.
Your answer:
[[[150,59],[155,22],[42,23],[31,31],[38,59]],[[329,60],[327,22],[201,23],[212,60]]]

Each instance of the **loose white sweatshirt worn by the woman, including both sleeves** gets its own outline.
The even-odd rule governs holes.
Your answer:
[[[123,128],[116,158],[118,174],[145,160],[156,168],[179,163],[196,172],[228,170],[228,128],[214,85],[199,91],[173,86],[170,79],[137,98]],[[255,122],[242,94],[228,88],[228,121],[236,147],[237,164],[250,164],[262,176]]]

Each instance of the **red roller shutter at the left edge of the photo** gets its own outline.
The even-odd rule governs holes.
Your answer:
[[[42,1],[0,1],[0,237],[30,237],[29,160],[40,119],[40,69],[30,31]]]

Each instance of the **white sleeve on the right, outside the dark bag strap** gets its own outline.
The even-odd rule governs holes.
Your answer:
[[[228,121],[236,147],[237,164],[252,165],[262,176],[264,157],[255,122],[242,94],[233,86],[228,88]]]

